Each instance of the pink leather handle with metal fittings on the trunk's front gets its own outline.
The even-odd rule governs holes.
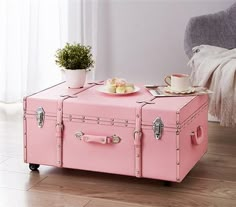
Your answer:
[[[75,137],[87,142],[87,143],[99,143],[99,144],[118,144],[121,142],[119,136],[96,136],[96,135],[85,135],[83,132],[79,131],[75,134]]]

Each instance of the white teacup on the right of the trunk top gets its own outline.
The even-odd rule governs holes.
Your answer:
[[[165,77],[164,81],[173,91],[186,91],[191,87],[189,75],[187,74],[168,75]]]

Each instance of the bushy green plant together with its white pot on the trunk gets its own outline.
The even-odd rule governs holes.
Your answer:
[[[81,88],[86,80],[86,72],[94,65],[91,46],[79,43],[66,43],[56,51],[56,64],[65,69],[65,77],[69,88]]]

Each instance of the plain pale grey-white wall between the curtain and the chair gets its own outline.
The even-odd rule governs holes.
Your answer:
[[[100,0],[96,78],[163,83],[190,73],[184,32],[190,17],[226,9],[234,0]]]

